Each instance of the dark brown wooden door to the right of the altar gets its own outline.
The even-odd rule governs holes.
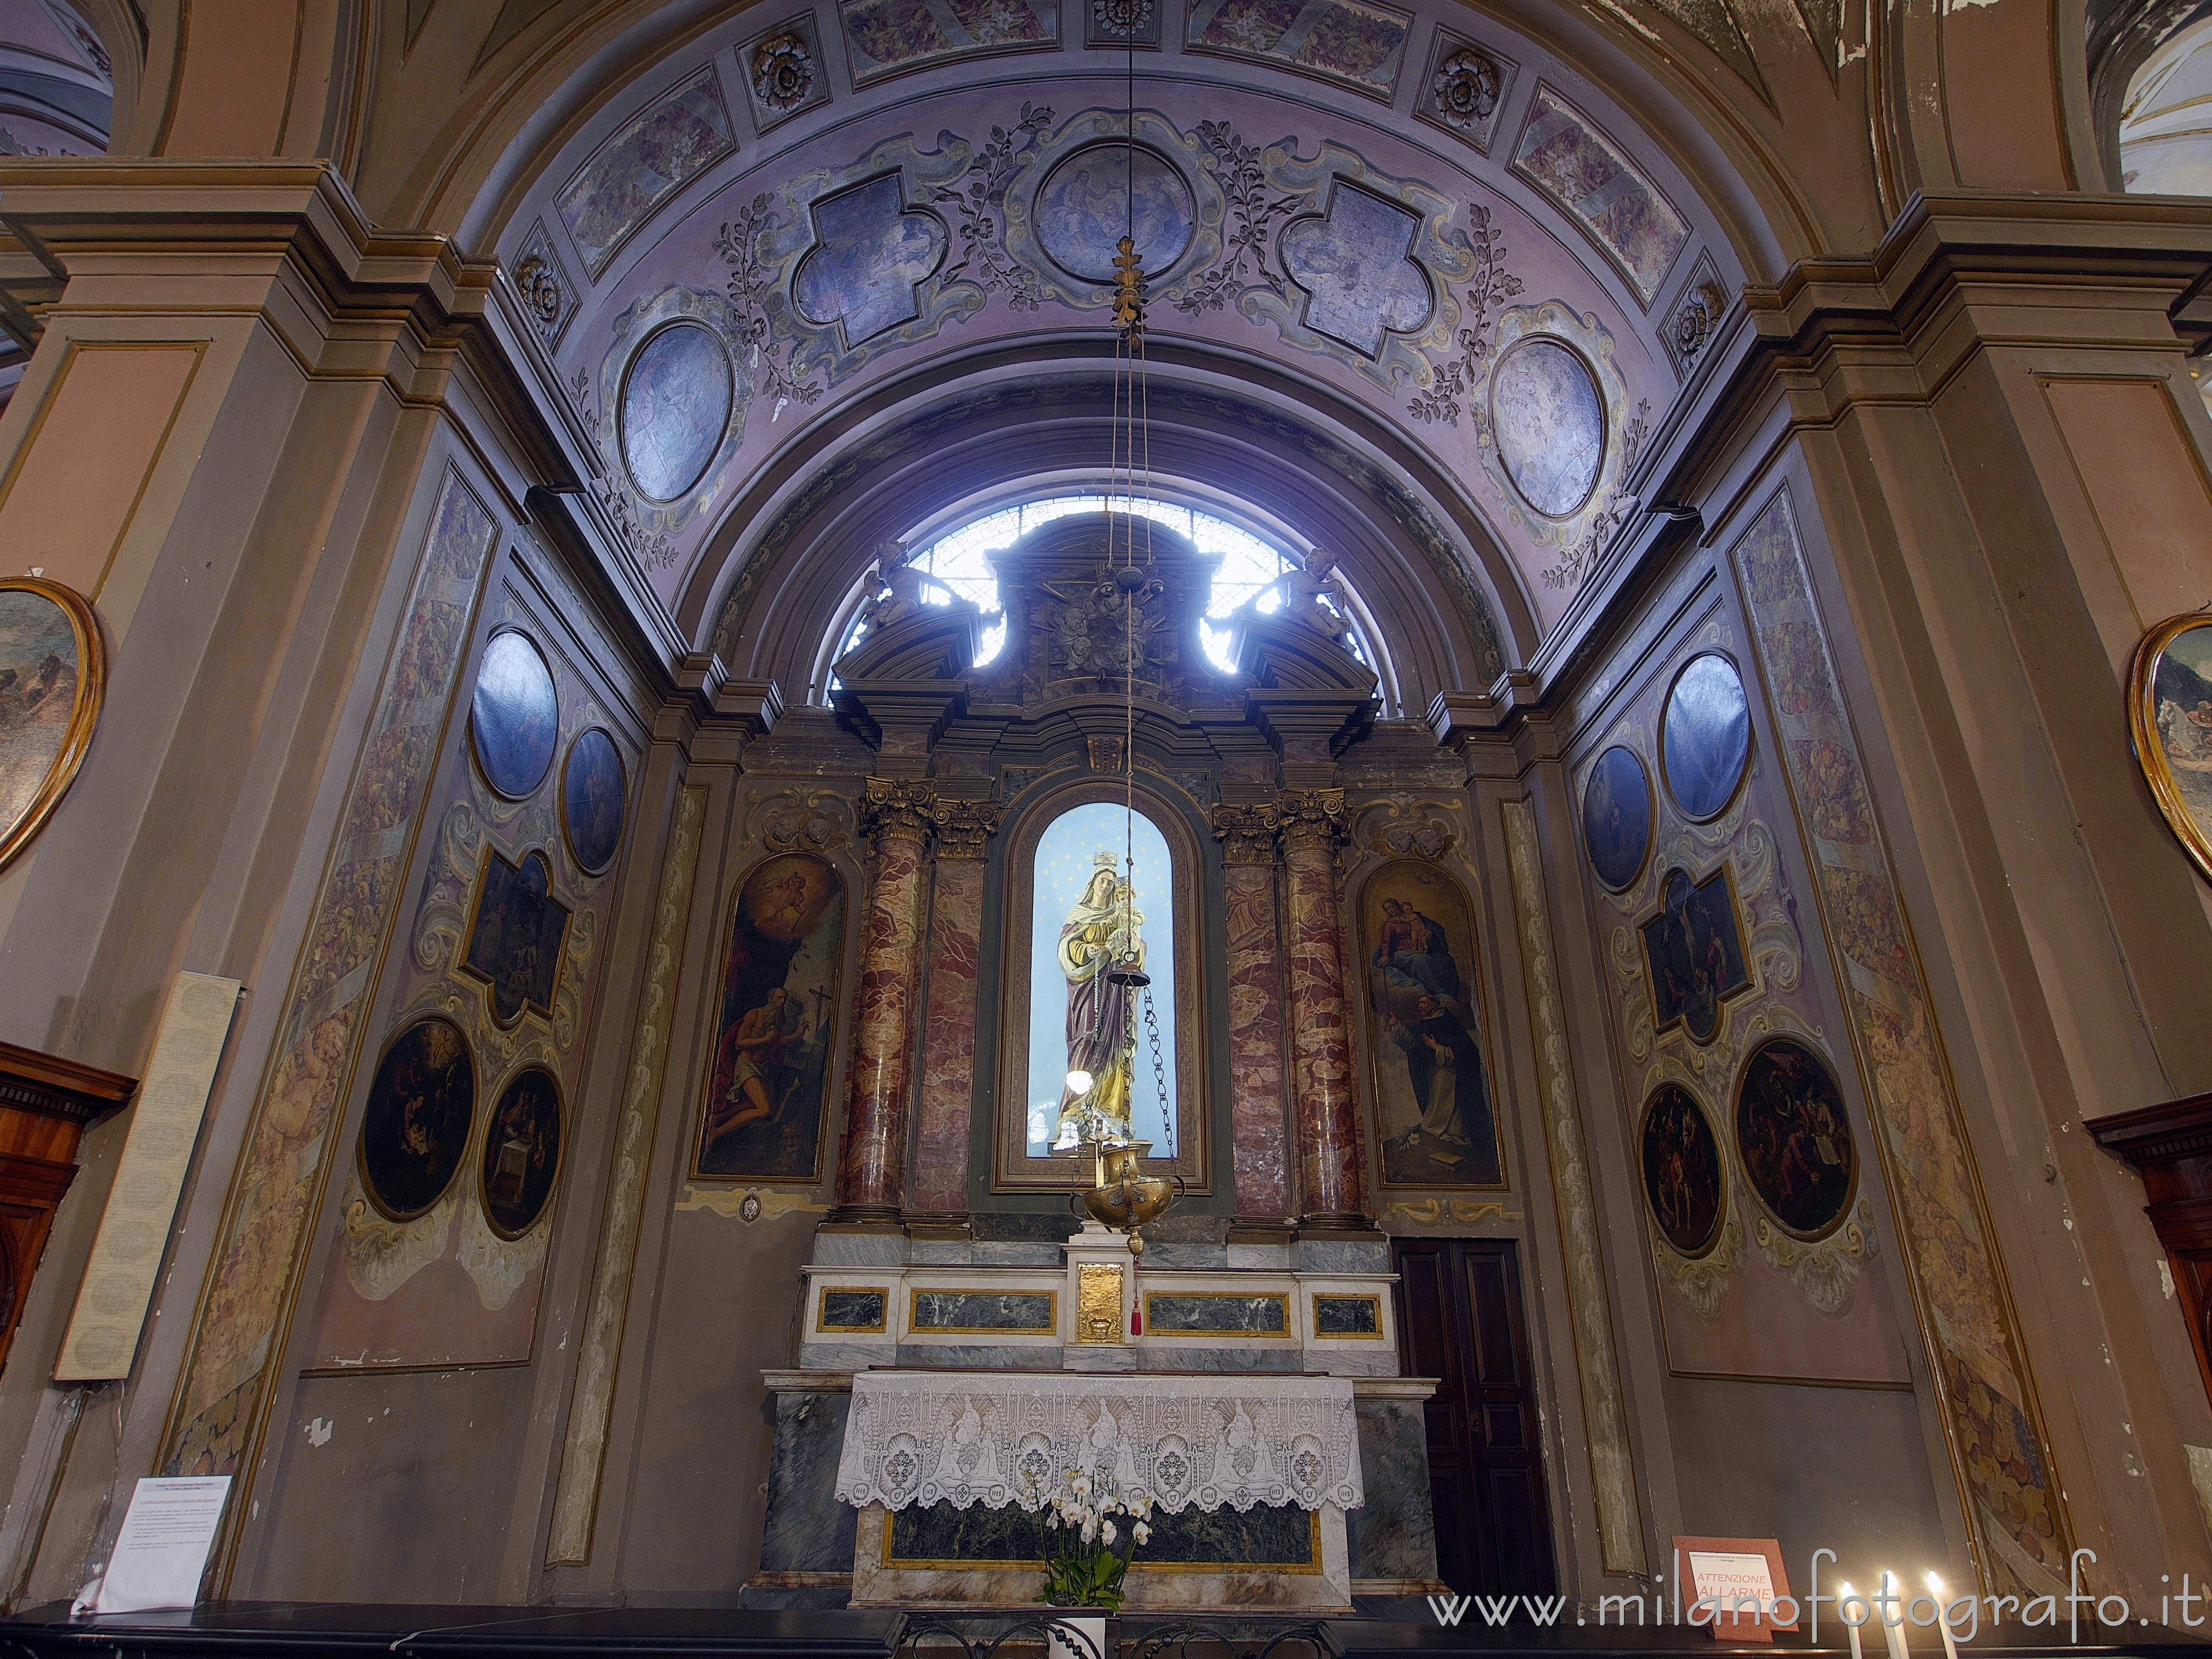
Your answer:
[[[1458,1595],[1551,1595],[1551,1511],[1511,1239],[1394,1239],[1398,1345],[1429,1400],[1436,1575]]]

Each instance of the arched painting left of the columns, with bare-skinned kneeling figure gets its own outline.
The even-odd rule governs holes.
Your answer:
[[[763,860],[737,894],[692,1175],[812,1181],[836,1029],[845,883],[812,854]]]

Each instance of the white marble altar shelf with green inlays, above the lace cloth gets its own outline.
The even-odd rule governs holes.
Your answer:
[[[818,1243],[841,1241],[825,1234]],[[1055,1252],[1062,1248],[1055,1245]],[[1374,1245],[1329,1243],[1374,1265]],[[1383,1248],[1387,1252],[1387,1245]],[[960,1365],[1128,1371],[1325,1371],[1396,1376],[1398,1321],[1389,1272],[1283,1267],[1128,1272],[1128,1252],[1082,1243],[1066,1265],[810,1263],[799,1363],[807,1369]],[[1272,1250],[1276,1259],[1285,1250]],[[1387,1261],[1387,1254],[1383,1256]],[[1119,1265],[1121,1314],[1113,1340],[1079,1338],[1082,1265]],[[1144,1298],[1144,1334],[1128,1334]]]

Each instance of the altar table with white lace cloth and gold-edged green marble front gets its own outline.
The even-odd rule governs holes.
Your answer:
[[[852,1606],[1022,1606],[1071,1482],[1146,1498],[1130,1610],[1352,1610],[1365,1504],[1352,1378],[863,1371],[838,1455],[860,1511]]]

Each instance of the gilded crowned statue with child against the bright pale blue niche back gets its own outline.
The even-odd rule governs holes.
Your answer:
[[[1029,1155],[1071,1155],[1086,1139],[1164,1148],[1175,1077],[1175,880],[1159,827],[1095,801],[1060,814],[1037,841],[1029,951]],[[1150,984],[1108,978],[1135,964]],[[1144,1000],[1155,1020],[1146,1022]],[[1152,1026],[1159,1068],[1152,1066]],[[1141,1042],[1139,1042],[1141,1033]]]

